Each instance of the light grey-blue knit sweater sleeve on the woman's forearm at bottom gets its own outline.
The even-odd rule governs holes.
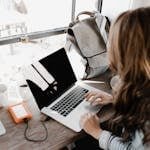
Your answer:
[[[114,136],[111,132],[103,130],[99,136],[99,146],[104,150],[144,150],[144,146],[135,146],[132,142],[121,141],[121,138]]]

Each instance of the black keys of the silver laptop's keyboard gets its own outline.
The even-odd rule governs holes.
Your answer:
[[[57,111],[58,113],[66,117],[74,108],[76,108],[83,101],[84,95],[87,92],[87,89],[78,86],[70,91],[65,97],[63,97],[50,109]]]

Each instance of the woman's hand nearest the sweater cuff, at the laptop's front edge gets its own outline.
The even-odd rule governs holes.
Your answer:
[[[91,113],[83,115],[80,120],[80,125],[83,130],[93,136],[95,139],[99,138],[99,135],[102,131],[99,123],[99,118]]]

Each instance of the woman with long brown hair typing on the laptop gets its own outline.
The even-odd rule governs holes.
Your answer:
[[[92,104],[113,103],[109,131],[96,115],[85,114],[81,126],[103,149],[148,149],[150,142],[150,7],[122,13],[110,29],[108,53],[112,71],[120,77],[113,95],[89,92]],[[118,129],[121,134],[118,136]]]

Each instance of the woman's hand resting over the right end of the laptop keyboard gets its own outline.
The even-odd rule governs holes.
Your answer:
[[[112,95],[103,91],[91,91],[85,94],[85,99],[91,103],[91,105],[106,105],[113,103]]]

